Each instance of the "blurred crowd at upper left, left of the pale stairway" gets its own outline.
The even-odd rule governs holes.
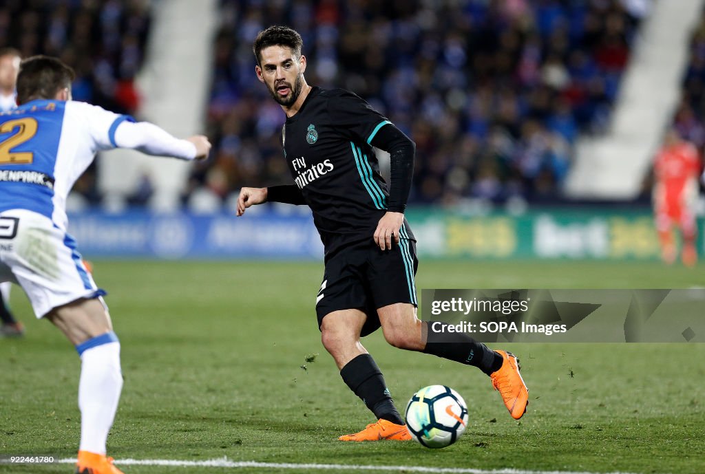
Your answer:
[[[134,78],[144,61],[149,31],[146,0],[2,0],[0,48],[26,58],[57,56],[76,73],[73,99],[118,113],[134,113]],[[75,192],[99,203],[95,165]]]

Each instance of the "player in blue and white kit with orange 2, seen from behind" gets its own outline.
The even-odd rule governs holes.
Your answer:
[[[192,160],[205,158],[210,143],[203,136],[176,139],[151,123],[71,101],[74,78],[56,58],[28,58],[18,75],[19,106],[0,114],[0,281],[23,287],[37,318],[54,323],[80,355],[76,473],[119,474],[106,457],[106,439],[123,384],[120,342],[105,292],[66,232],[66,197],[98,150]]]

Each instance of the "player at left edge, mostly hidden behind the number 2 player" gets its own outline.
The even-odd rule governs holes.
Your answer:
[[[20,51],[0,49],[0,113],[17,107],[17,74],[20,72]],[[21,337],[25,329],[10,311],[10,282],[0,283],[0,337]]]

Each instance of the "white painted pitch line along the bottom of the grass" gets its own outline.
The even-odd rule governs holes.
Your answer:
[[[75,459],[58,459],[57,463],[73,464]],[[572,470],[524,470],[524,469],[472,469],[472,468],[431,468],[427,466],[369,466],[360,464],[298,464],[298,463],[262,463],[257,461],[231,461],[228,458],[209,459],[207,461],[178,461],[174,459],[120,459],[115,461],[121,466],[178,466],[185,468],[276,468],[305,470],[376,470],[403,471],[406,473],[434,474],[598,474],[587,471]],[[633,474],[612,472],[607,474]]]

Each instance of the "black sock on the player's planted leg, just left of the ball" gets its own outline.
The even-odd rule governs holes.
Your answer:
[[[404,420],[394,406],[381,370],[369,354],[360,354],[341,369],[348,387],[362,399],[374,416],[403,425]]]

